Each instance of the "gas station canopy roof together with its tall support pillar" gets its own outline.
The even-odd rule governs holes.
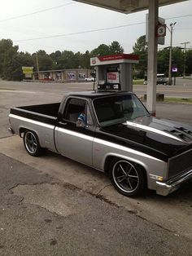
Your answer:
[[[103,7],[112,11],[120,11],[129,14],[137,11],[148,10],[148,64],[147,64],[147,90],[146,107],[155,116],[156,110],[156,74],[157,74],[157,25],[159,24],[159,7],[163,7],[176,2],[187,0],[75,0],[84,2],[96,7]],[[124,82],[126,82],[124,80]],[[130,89],[128,87],[122,88]]]

